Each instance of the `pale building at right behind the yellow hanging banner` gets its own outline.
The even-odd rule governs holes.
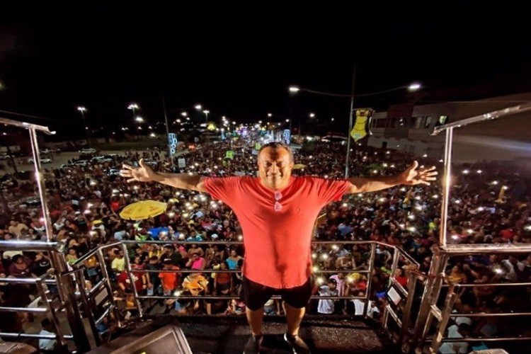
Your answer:
[[[430,104],[403,103],[372,116],[371,147],[411,156],[442,159],[445,135],[431,135],[438,125],[531,102],[531,93]],[[455,161],[531,158],[531,113],[508,116],[454,130]]]

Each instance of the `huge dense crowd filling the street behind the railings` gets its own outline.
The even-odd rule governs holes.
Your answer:
[[[202,144],[179,156],[185,167],[173,171],[204,176],[256,176],[254,141]],[[342,178],[346,147],[341,143],[312,142],[295,153],[295,175]],[[227,159],[226,152],[234,152]],[[154,161],[154,169],[171,171],[166,152],[150,150],[125,152],[109,156],[108,161],[87,166],[45,170],[45,188],[53,229],[53,241],[64,244],[64,256],[73,267],[83,266],[90,284],[101,277],[95,257],[79,258],[98,246],[115,241],[127,242],[127,253],[121,247],[105,249],[105,261],[115,286],[115,297],[124,303],[123,315],[135,313],[132,287],[140,295],[189,295],[197,299],[161,299],[142,301],[144,307],[161,304],[166,312],[176,314],[244,314],[239,299],[201,299],[200,295],[232,295],[237,297],[241,275],[222,270],[239,270],[244,249],[238,220],[227,205],[209,195],[177,190],[156,183],[125,183],[112,169],[122,164],[135,164],[144,157]],[[351,154],[350,174],[384,176],[402,171],[411,156],[394,150],[374,149],[355,144]],[[436,159],[423,157],[420,164],[438,166]],[[520,166],[480,161],[455,165],[450,188],[447,240],[453,244],[528,244],[531,242],[530,180]],[[13,204],[8,219],[0,222],[2,240],[42,240],[45,227],[39,205],[23,200],[33,195],[35,184],[14,176],[4,176],[4,196]],[[8,185],[8,188],[6,186]],[[392,273],[392,250],[379,246],[371,274],[368,244],[342,244],[343,241],[382,241],[404,249],[426,273],[438,244],[440,229],[440,183],[430,186],[397,187],[381,193],[347,195],[322,211],[315,227],[315,241],[338,241],[337,244],[314,244],[314,294],[330,296],[364,296],[367,280],[372,280],[367,314],[379,319],[386,302],[389,278],[402,287],[408,283],[409,261],[401,258],[399,269]],[[149,219],[129,221],[120,210],[137,200],[159,200],[168,207],[163,214]],[[4,216],[7,215],[4,210]],[[156,241],[182,241],[179,244]],[[130,284],[125,258],[130,261]],[[40,276],[50,268],[46,253],[4,251],[1,255],[0,278]],[[142,270],[156,270],[149,273]],[[169,271],[164,271],[169,270]],[[180,273],[178,270],[198,270]],[[217,270],[209,272],[208,270]],[[337,270],[337,273],[319,273]],[[331,276],[330,276],[331,275]],[[451,258],[447,275],[455,282],[529,282],[531,254],[507,256],[467,256]],[[28,291],[29,290],[29,291]],[[36,298],[35,289],[27,285],[0,284],[2,306],[25,307]],[[361,299],[319,299],[308,304],[310,313],[363,314]],[[458,312],[525,311],[531,308],[531,287],[463,287],[455,308]],[[265,305],[266,314],[280,314],[278,300]],[[7,316],[7,315],[4,315]],[[32,316],[9,314],[0,321],[2,331],[23,329]],[[514,322],[482,317],[458,317],[451,324],[453,336],[508,335]],[[521,328],[519,329],[521,331]],[[450,335],[450,330],[449,330]],[[465,343],[466,344],[466,343]],[[453,349],[453,348],[450,348]],[[442,348],[444,350],[444,348]]]

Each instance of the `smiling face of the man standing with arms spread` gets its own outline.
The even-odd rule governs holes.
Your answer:
[[[284,188],[290,180],[292,168],[290,153],[282,147],[266,147],[258,155],[258,175],[266,187]]]

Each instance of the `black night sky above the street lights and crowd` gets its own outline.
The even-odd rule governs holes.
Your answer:
[[[170,118],[178,108],[191,112],[202,103],[216,119],[260,120],[268,112],[296,118],[313,111],[341,125],[348,98],[290,97],[287,86],[350,93],[354,64],[356,93],[411,81],[427,90],[530,89],[523,8],[488,8],[484,2],[476,8],[469,1],[445,1],[444,7],[382,2],[371,8],[350,2],[290,2],[290,8],[265,1],[3,5],[0,110],[47,118],[33,121],[61,133],[79,124],[76,106],[84,105],[89,124],[115,129],[132,123],[126,109],[131,102],[141,106],[144,118],[163,119],[164,96]],[[356,105],[384,106],[402,98],[399,92],[382,94],[358,98]]]

